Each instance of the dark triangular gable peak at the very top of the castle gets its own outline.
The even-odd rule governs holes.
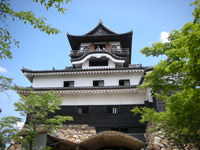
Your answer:
[[[92,29],[83,36],[113,35],[113,34],[117,33],[104,26],[103,22],[100,20],[99,24],[94,29]]]

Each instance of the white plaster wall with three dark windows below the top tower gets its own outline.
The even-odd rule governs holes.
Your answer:
[[[75,87],[93,86],[93,80],[104,80],[104,86],[118,86],[119,80],[129,79],[130,85],[138,85],[142,73],[82,74],[60,76],[36,76],[33,87],[63,87],[63,81],[74,81]]]

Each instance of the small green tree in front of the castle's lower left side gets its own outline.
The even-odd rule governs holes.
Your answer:
[[[27,123],[18,135],[23,137],[22,143],[29,143],[30,150],[39,132],[52,133],[61,127],[63,122],[73,120],[70,116],[50,115],[60,110],[61,102],[60,96],[53,92],[41,95],[30,92],[28,96],[21,95],[19,102],[14,104],[16,111],[27,117]]]

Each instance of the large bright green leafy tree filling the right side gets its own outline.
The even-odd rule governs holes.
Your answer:
[[[200,0],[193,3],[194,21],[170,33],[169,42],[157,42],[141,50],[146,56],[163,56],[145,76],[141,88],[150,88],[166,104],[166,112],[135,108],[141,122],[156,124],[180,148],[194,144],[200,149]]]

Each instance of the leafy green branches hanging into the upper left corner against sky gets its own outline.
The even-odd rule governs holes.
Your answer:
[[[32,0],[35,3],[40,3],[48,10],[49,8],[56,8],[58,12],[64,13],[66,9],[64,4],[70,2],[70,0]],[[24,24],[29,23],[36,29],[47,34],[58,34],[60,30],[53,28],[51,25],[46,24],[46,18],[36,17],[32,11],[15,11],[10,6],[10,0],[0,0],[0,60],[12,59],[11,45],[14,44],[19,47],[19,41],[11,36],[9,28],[6,25],[6,19],[12,18],[12,20],[23,21]],[[5,91],[11,87],[12,79],[0,76],[0,91]]]

